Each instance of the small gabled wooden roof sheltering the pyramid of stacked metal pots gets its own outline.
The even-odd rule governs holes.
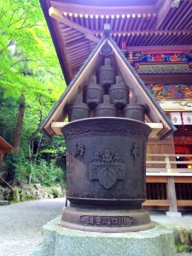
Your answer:
[[[134,95],[137,95],[138,102],[143,104],[148,110],[148,125],[154,128],[155,136],[162,139],[171,135],[172,132],[176,130],[171,120],[167,118],[166,113],[160,108],[160,105],[155,102],[154,97],[149,93],[143,80],[140,79],[137,72],[131,67],[129,61],[125,59],[125,55],[122,54],[108,31],[97,43],[96,48],[84,62],[84,65],[61,95],[60,100],[55,104],[55,107],[44,120],[44,123],[40,127],[42,131],[49,137],[55,134],[61,135],[61,127],[65,125],[64,121],[67,118],[68,106],[77,97],[79,92],[83,90],[84,86],[89,83],[89,79],[95,74],[96,69],[103,64],[101,49],[104,44],[108,44],[112,49],[113,65],[118,69],[118,73],[122,76],[124,83],[129,86]]]

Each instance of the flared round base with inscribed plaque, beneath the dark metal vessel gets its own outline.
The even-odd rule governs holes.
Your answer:
[[[67,207],[63,209],[60,225],[67,229],[100,233],[124,233],[154,228],[144,209],[100,206]]]

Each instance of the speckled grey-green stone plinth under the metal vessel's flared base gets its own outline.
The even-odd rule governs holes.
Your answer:
[[[41,249],[33,256],[175,256],[172,230],[127,233],[98,233],[69,230],[55,218],[44,226]]]

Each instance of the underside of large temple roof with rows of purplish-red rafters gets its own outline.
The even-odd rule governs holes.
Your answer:
[[[176,5],[176,2],[179,5]],[[40,0],[67,84],[109,23],[116,44],[192,50],[192,3],[187,0]],[[173,7],[173,8],[172,8]]]

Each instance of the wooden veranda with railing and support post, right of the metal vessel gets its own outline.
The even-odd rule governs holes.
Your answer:
[[[166,207],[174,216],[180,214],[177,207],[192,207],[192,169],[178,167],[192,166],[192,161],[177,157],[192,159],[192,154],[147,154],[148,200],[143,207]]]

